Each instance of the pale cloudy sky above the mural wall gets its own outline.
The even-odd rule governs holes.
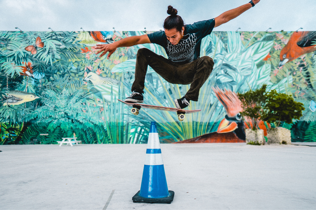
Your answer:
[[[168,5],[185,24],[215,18],[249,0],[0,0],[0,31],[158,31]],[[315,0],[261,0],[214,31],[316,31]]]

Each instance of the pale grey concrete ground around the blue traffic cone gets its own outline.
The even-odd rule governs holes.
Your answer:
[[[147,145],[2,145],[0,209],[316,209],[316,147],[162,144],[171,204],[133,203]]]

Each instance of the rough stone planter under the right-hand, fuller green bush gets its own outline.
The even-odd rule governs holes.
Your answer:
[[[268,128],[268,144],[291,144],[291,131],[286,128]]]

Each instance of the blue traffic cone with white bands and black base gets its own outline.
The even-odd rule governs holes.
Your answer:
[[[173,196],[174,192],[167,186],[156,122],[151,122],[142,184],[132,200],[134,203],[171,203]]]

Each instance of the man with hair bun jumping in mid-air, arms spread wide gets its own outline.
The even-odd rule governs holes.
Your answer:
[[[188,92],[174,102],[178,109],[184,109],[190,100],[197,101],[199,90],[213,70],[213,59],[208,56],[200,57],[202,38],[209,35],[214,27],[232,20],[253,7],[260,0],[252,0],[238,8],[228,10],[218,17],[184,25],[178,11],[168,6],[169,16],[164,21],[165,31],[156,31],[142,36],[126,37],[110,44],[97,44],[96,52],[102,57],[108,52],[107,59],[116,48],[131,47],[137,44],[155,43],[165,48],[168,59],[157,55],[147,48],[137,52],[135,66],[135,81],[132,85],[131,96],[125,99],[129,103],[143,103],[143,89],[148,65],[167,82],[173,84],[191,84]]]

